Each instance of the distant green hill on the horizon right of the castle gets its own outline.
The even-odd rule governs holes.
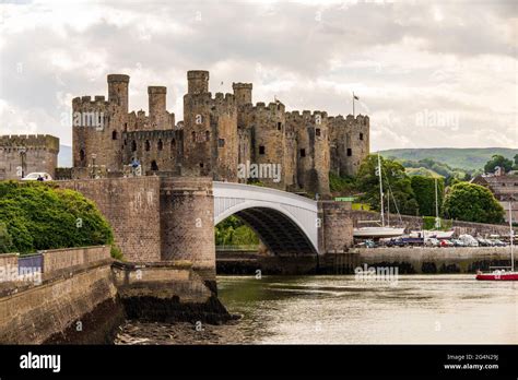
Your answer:
[[[503,155],[513,159],[518,154],[518,149],[508,147],[432,147],[432,149],[401,149],[379,152],[381,156],[396,159],[420,161],[432,158],[433,161],[447,164],[452,168],[466,170],[482,169],[491,156]]]

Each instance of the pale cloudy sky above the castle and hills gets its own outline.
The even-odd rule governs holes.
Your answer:
[[[372,151],[518,147],[518,2],[5,1],[0,134],[71,145],[71,102],[131,76],[131,110],[167,86],[183,119],[188,70],[254,103],[370,117]]]

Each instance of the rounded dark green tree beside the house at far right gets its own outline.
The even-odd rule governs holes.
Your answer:
[[[504,209],[493,193],[483,186],[469,182],[458,182],[449,189],[444,213],[449,218],[466,222],[504,222]]]

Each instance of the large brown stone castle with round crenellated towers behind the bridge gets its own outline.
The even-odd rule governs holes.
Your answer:
[[[255,105],[251,83],[233,83],[234,94],[212,96],[202,70],[188,71],[187,82],[178,123],[166,109],[164,86],[148,87],[149,115],[129,112],[128,75],[108,75],[108,100],[74,98],[74,176],[86,177],[94,166],[118,176],[138,159],[143,175],[260,181],[328,197],[329,173],[354,175],[369,153],[367,116],[286,111],[278,100]],[[239,175],[243,167],[247,177]]]

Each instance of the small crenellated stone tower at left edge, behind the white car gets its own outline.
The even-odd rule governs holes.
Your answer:
[[[49,134],[1,135],[0,180],[20,179],[22,171],[45,171],[54,178],[58,153],[59,139]]]

